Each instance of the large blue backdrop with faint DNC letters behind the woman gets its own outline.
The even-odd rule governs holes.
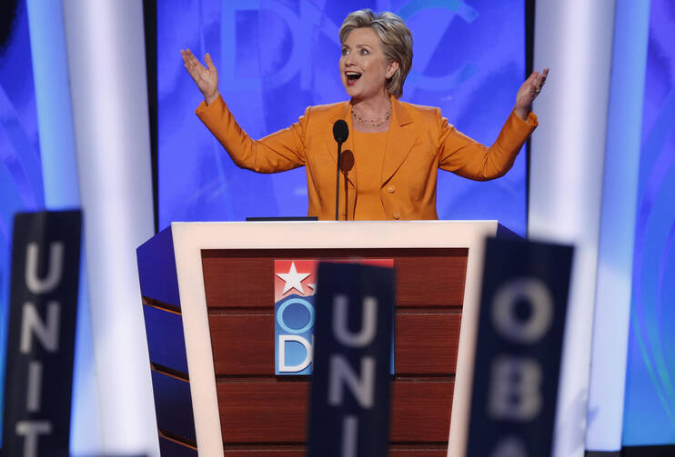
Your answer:
[[[196,118],[202,100],[181,48],[209,52],[220,92],[254,138],[297,121],[307,105],[347,99],[337,31],[349,12],[397,13],[412,30],[413,66],[402,100],[438,106],[451,124],[492,144],[525,77],[523,0],[199,0],[157,2],[160,229],[172,221],[232,221],[307,214],[304,168],[255,174],[237,168]],[[498,219],[526,230],[525,154],[492,182],[443,171],[441,219]]]

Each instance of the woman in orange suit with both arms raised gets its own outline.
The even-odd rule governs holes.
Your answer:
[[[530,112],[549,70],[529,76],[497,140],[486,147],[448,124],[440,110],[400,102],[412,66],[412,35],[392,13],[359,10],[339,30],[339,71],[348,102],[310,106],[296,124],[252,140],[218,93],[210,55],[201,65],[181,51],[204,102],[196,114],[238,166],[277,173],[305,166],[310,216],[335,219],[337,143],[333,127],[348,126],[338,180],[340,220],[438,219],[438,168],[485,181],[509,171],[537,126]],[[346,133],[343,133],[343,136]]]

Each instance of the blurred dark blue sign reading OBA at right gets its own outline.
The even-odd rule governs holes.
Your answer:
[[[572,252],[487,241],[467,455],[550,455]]]

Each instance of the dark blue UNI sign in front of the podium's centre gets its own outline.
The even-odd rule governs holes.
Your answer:
[[[394,271],[320,263],[309,457],[388,455]]]

